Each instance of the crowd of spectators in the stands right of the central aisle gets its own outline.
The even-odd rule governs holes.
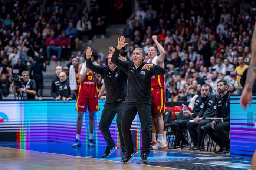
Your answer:
[[[201,85],[226,80],[229,91],[241,94],[240,78],[249,67],[255,24],[255,1],[164,1],[141,4],[123,30],[130,37],[123,56],[132,58],[136,47],[154,45],[152,35],[165,47],[166,101],[190,101]],[[156,46],[155,46],[156,47]]]

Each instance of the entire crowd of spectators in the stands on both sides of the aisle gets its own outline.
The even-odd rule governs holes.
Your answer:
[[[13,69],[19,70],[19,76],[24,70],[38,71],[38,91],[43,88],[40,82],[46,64],[32,67],[33,63],[76,57],[71,50],[78,51],[81,63],[83,53],[79,50],[85,50],[79,49],[82,35],[88,36],[88,43],[93,38],[105,38],[106,16],[97,3],[89,10],[86,6],[79,10],[76,6],[66,8],[58,1],[49,1],[42,9],[39,1],[35,2],[1,6],[3,96],[10,93]],[[157,35],[166,55],[166,101],[190,101],[200,95],[203,84],[210,85],[210,93],[216,94],[219,80],[227,81],[231,93],[241,94],[240,78],[251,59],[255,13],[255,1],[246,0],[139,2],[138,10],[126,20],[122,34],[129,37],[129,45],[120,54],[131,61],[134,48],[142,47],[147,53],[150,45],[156,47],[151,37]],[[106,64],[104,54],[98,52],[97,62]]]

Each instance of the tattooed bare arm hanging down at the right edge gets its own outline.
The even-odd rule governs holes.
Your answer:
[[[256,78],[256,23],[254,26],[251,49],[252,59],[250,61],[249,68],[247,70],[246,82],[243,93],[240,98],[240,104],[244,110],[246,110],[247,103],[251,106],[252,103],[252,87]]]

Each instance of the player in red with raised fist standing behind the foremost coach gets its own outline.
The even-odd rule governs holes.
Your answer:
[[[157,41],[157,36],[152,36],[154,43],[157,45],[160,55],[157,56],[157,49],[154,46],[148,48],[149,63],[156,64],[164,68],[164,47]],[[152,96],[152,145],[153,149],[167,149],[167,144],[164,140],[164,119],[163,114],[165,113],[165,84],[164,75],[152,75],[151,78],[151,96]],[[154,123],[154,120],[157,123]],[[157,127],[154,126],[157,124]],[[155,128],[154,128],[155,127]],[[158,129],[158,137],[156,140],[156,130]]]

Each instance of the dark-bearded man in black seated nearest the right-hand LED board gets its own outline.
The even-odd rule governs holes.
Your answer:
[[[217,91],[220,94],[217,100],[217,108],[215,118],[223,118],[222,120],[215,120],[204,126],[206,133],[213,139],[220,149],[215,153],[230,153],[230,139],[228,131],[230,131],[230,108],[228,85],[225,80],[217,82]]]

